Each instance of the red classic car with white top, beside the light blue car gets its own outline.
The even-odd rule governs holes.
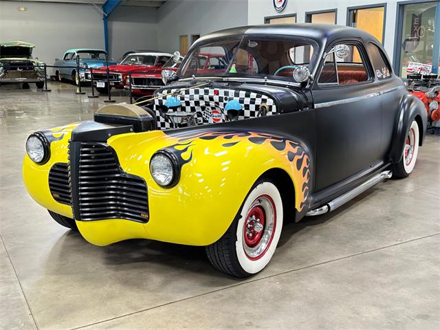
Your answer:
[[[129,72],[159,72],[164,64],[171,57],[171,54],[162,52],[148,52],[129,54],[118,65],[109,66],[110,89],[123,89],[126,77]],[[93,70],[94,84],[100,94],[107,94],[107,67],[100,67]],[[86,80],[91,80],[90,72],[86,73]]]

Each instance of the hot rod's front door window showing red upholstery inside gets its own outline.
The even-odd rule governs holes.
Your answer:
[[[318,83],[354,85],[369,80],[360,46],[349,45],[349,54],[340,58],[335,52],[327,55]]]

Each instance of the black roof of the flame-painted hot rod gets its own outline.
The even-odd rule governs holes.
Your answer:
[[[349,26],[334,24],[294,23],[249,25],[241,26],[238,28],[220,30],[201,37],[196,41],[196,44],[206,41],[206,39],[243,34],[303,36],[305,38],[316,41],[320,46],[326,45],[333,40],[347,37],[359,38],[363,39],[364,41],[376,41],[377,43],[379,43],[375,39],[375,37],[368,32],[351,28]]]

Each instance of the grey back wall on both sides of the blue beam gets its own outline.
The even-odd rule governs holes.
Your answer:
[[[19,6],[28,10],[19,12]],[[156,16],[153,8],[117,8],[109,19],[111,56],[156,49]],[[34,56],[47,64],[69,48],[104,49],[102,14],[93,5],[0,0],[0,41],[14,40],[34,43]]]

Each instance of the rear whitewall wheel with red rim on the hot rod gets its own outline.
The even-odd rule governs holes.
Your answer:
[[[408,177],[414,169],[419,153],[419,125],[415,120],[412,121],[410,129],[406,134],[404,142],[404,153],[397,164],[393,164],[393,177]]]

